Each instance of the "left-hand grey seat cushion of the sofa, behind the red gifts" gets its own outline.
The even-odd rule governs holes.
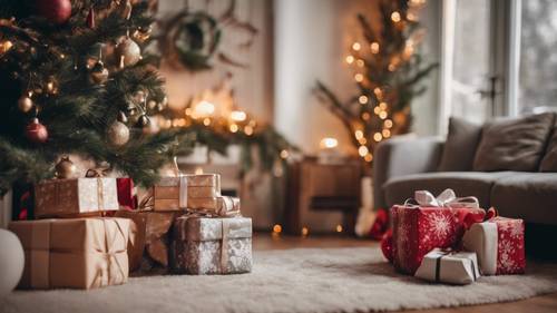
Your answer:
[[[481,173],[481,172],[441,172],[423,173],[400,176],[388,180],[383,188],[387,204],[402,204],[413,197],[416,190],[429,190],[439,195],[442,190],[451,188],[457,196],[475,196],[481,207],[490,206],[491,187],[499,178],[511,176],[512,172]]]

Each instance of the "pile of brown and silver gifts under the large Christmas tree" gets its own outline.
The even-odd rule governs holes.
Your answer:
[[[216,174],[164,177],[135,208],[129,178],[35,186],[35,216],[12,222],[26,264],[21,288],[124,284],[133,271],[234,274],[252,270],[252,221],[221,195]],[[125,203],[126,205],[123,205]]]

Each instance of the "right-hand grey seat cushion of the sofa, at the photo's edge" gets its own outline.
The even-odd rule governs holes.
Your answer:
[[[557,224],[557,173],[516,173],[491,189],[491,205],[501,216],[528,223]]]

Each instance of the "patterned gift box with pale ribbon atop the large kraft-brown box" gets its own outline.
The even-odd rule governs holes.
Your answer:
[[[35,186],[35,216],[68,217],[117,211],[116,178],[51,179]]]

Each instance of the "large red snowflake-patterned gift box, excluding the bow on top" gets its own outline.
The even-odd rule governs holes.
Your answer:
[[[411,274],[436,247],[452,247],[459,225],[451,208],[395,205],[391,208],[392,252],[397,271]]]

